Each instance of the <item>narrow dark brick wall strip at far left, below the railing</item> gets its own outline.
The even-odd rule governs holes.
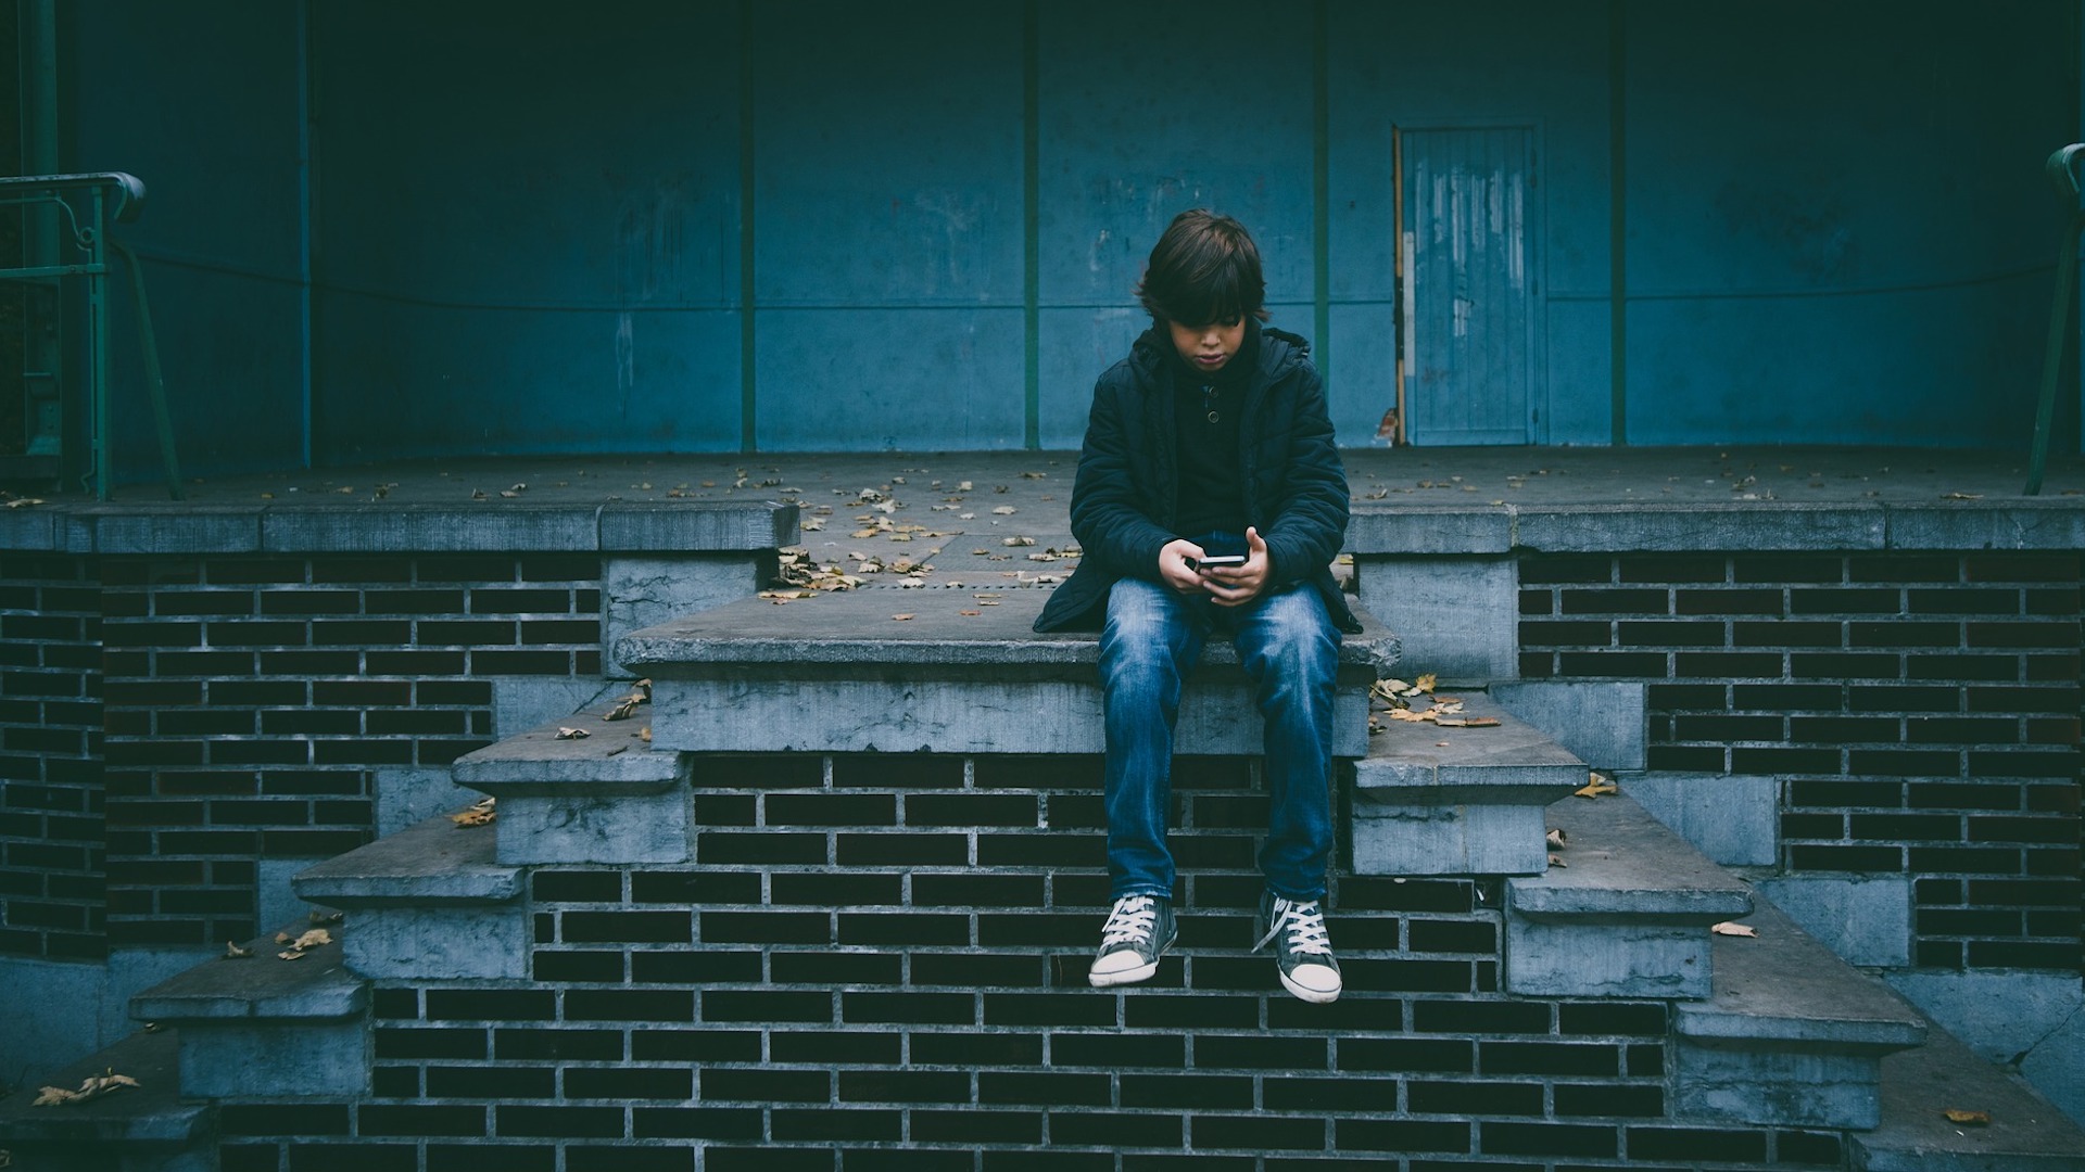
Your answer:
[[[100,621],[83,559],[0,557],[0,953],[106,951]]]

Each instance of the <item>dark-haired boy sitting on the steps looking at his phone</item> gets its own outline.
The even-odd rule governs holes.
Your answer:
[[[1093,392],[1072,488],[1084,559],[1036,630],[1101,617],[1107,872],[1113,909],[1088,978],[1132,984],[1176,938],[1166,849],[1180,678],[1209,634],[1230,638],[1266,717],[1272,811],[1255,947],[1282,986],[1339,999],[1324,928],[1332,847],[1330,732],[1339,632],[1359,632],[1332,582],[1347,478],[1309,346],[1261,327],[1266,282],[1245,227],[1180,213],[1136,296],[1151,313]]]

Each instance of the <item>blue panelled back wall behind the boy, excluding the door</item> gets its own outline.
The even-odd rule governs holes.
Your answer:
[[[202,471],[302,459],[306,355],[319,463],[1074,446],[1197,204],[1370,444],[1393,125],[1530,129],[1530,442],[2025,444],[2079,133],[2077,4],[2035,0],[79,0],[71,38]]]

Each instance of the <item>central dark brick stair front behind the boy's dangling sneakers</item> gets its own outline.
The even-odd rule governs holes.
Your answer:
[[[1176,778],[1180,949],[1103,993],[1097,759],[705,759],[694,865],[538,870],[532,980],[377,988],[373,1095],[236,1105],[223,1166],[1843,1166],[1666,1122],[1664,1003],[1499,997],[1497,880],[1339,880],[1349,995],[1286,997],[1253,770]]]

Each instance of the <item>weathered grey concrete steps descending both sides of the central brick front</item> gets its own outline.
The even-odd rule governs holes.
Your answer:
[[[81,1070],[150,1070],[148,1093],[65,1116],[19,1093],[0,1103],[0,1149],[50,1159],[33,1168],[194,1172],[215,1166],[213,1103],[363,1101],[373,988],[528,988],[542,943],[532,876],[588,868],[626,890],[634,870],[703,863],[696,792],[732,755],[1099,753],[1095,640],[1032,634],[1040,603],[1038,590],[749,599],[628,636],[617,659],[653,678],[632,717],[592,705],[461,759],[457,782],[498,799],[490,830],[432,817],[306,870],[296,893],[346,913],[338,943],[277,961],[277,945],[254,941],[259,959],[211,961],[140,995],[133,1016],[154,1032]],[[1847,1164],[1876,1172],[2085,1170],[2085,1134],[2025,1082],[1968,1057],[1626,795],[1572,797],[1587,763],[1485,692],[1464,690],[1462,715],[1497,724],[1382,722],[1370,734],[1368,690],[1395,659],[1397,640],[1374,621],[1343,649],[1343,870],[1393,884],[1478,876],[1478,899],[1501,901],[1491,1001],[1660,1005],[1672,1055],[1660,1124],[1670,1126],[1653,1139],[1747,1124],[1843,1132]],[[1257,753],[1249,711],[1230,649],[1213,646],[1182,703],[1180,753]],[[1564,832],[1562,847],[1549,830]],[[815,863],[796,872],[819,878]],[[1090,928],[1020,915],[1034,938]],[[1193,951],[1193,934],[1222,918],[1201,920],[1184,941],[1197,991],[1232,980],[1234,963]],[[1712,930],[1733,920],[1758,936]],[[1082,963],[1055,957],[1049,984],[1080,988]],[[1355,986],[1372,972],[1353,970]],[[1251,974],[1241,980],[1266,976],[1257,963]],[[1155,997],[1170,984],[1161,970]],[[1364,993],[1353,1014],[1372,1005],[1382,1003]],[[1268,1028],[1280,1032],[1289,1009],[1266,1001]],[[1989,1109],[1991,1126],[1937,1126],[1956,1099]]]

